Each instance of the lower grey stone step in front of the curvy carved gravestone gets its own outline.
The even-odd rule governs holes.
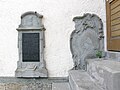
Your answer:
[[[69,71],[69,83],[72,90],[102,90],[92,81],[85,71]]]

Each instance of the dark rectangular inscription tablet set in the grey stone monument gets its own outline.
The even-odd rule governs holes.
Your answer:
[[[38,62],[39,59],[39,33],[22,34],[23,62]]]

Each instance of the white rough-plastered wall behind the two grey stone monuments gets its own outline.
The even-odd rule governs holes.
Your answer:
[[[19,59],[16,28],[21,14],[27,11],[37,11],[44,16],[49,77],[66,77],[73,67],[69,47],[70,34],[74,30],[73,17],[97,14],[106,30],[104,0],[0,0],[0,76],[14,76]]]

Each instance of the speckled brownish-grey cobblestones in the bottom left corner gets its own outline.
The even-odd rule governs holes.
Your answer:
[[[51,84],[43,83],[28,83],[28,84],[19,84],[19,83],[9,83],[9,84],[0,84],[0,90],[51,90]]]

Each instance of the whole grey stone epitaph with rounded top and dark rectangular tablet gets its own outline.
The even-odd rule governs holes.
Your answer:
[[[42,17],[37,12],[26,12],[21,16],[21,24],[17,28],[19,61],[16,77],[48,77]]]

